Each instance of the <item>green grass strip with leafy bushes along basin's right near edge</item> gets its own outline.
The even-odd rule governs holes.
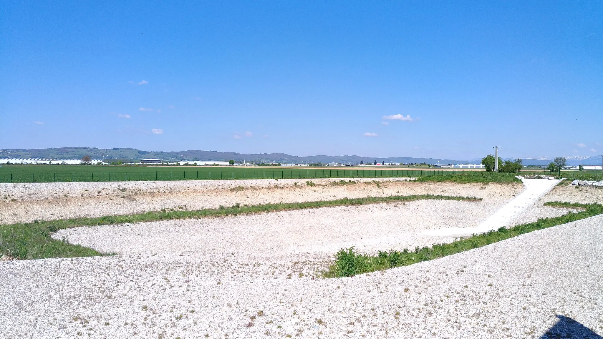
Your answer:
[[[539,219],[535,223],[522,224],[511,227],[510,229],[500,227],[498,230],[475,235],[467,239],[461,239],[450,244],[437,244],[432,247],[423,247],[422,249],[416,247],[414,250],[403,249],[402,252],[397,250],[390,250],[389,252],[379,251],[376,256],[361,255],[356,253],[353,247],[345,250],[341,249],[335,255],[335,264],[329,268],[329,271],[324,273],[324,276],[348,277],[385,270],[387,268],[408,266],[421,261],[429,261],[467,250],[477,249],[478,247],[493,244],[494,242],[513,238],[514,236],[533,232],[535,230],[603,214],[603,206],[600,204],[560,203],[551,201],[545,203],[545,206],[583,208],[584,211],[578,213],[569,212],[561,217]]]

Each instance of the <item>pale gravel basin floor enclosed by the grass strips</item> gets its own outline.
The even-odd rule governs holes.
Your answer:
[[[440,227],[475,226],[497,206],[483,201],[418,200],[306,209],[199,220],[168,220],[61,230],[72,243],[119,254],[236,253],[285,256],[342,247],[362,252],[414,249],[452,238],[418,235]]]

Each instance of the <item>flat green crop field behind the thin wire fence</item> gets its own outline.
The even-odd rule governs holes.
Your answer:
[[[462,170],[348,170],[344,168],[2,165],[1,183],[219,179],[390,178],[461,174]]]

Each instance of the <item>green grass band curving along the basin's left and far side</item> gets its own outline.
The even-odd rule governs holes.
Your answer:
[[[0,225],[0,253],[14,259],[69,258],[77,256],[105,255],[88,247],[69,244],[63,240],[52,239],[50,233],[60,229],[80,226],[101,226],[107,224],[139,223],[142,221],[159,221],[187,218],[216,217],[220,215],[254,214],[260,212],[288,211],[294,209],[324,208],[335,206],[351,206],[374,203],[390,203],[396,201],[414,201],[422,199],[478,201],[479,198],[449,197],[446,195],[397,195],[393,197],[366,197],[356,199],[338,199],[327,201],[308,201],[302,203],[259,204],[230,207],[220,206],[217,209],[201,209],[198,211],[174,210],[147,212],[133,215],[110,215],[100,218],[76,218],[33,223]]]

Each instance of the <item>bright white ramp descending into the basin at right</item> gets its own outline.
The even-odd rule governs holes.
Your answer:
[[[427,230],[424,235],[431,236],[471,236],[473,234],[485,233],[489,230],[497,230],[502,226],[507,225],[520,212],[528,208],[531,204],[538,200],[546,192],[550,191],[561,180],[546,180],[546,179],[524,179],[522,180],[525,189],[511,200],[503,208],[496,211],[493,215],[487,218],[483,223],[476,227],[450,227],[445,229]]]

